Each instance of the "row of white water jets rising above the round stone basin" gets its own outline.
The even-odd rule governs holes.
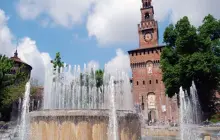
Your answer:
[[[112,73],[105,68],[103,85],[96,86],[95,68],[71,66],[51,68],[46,73],[43,109],[110,109],[108,96]],[[117,71],[114,80],[116,86],[116,109],[132,110],[132,95],[127,74]]]

